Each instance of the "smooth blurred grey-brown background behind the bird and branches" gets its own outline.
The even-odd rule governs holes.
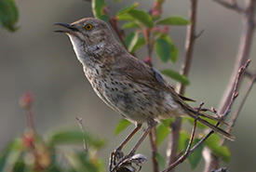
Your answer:
[[[120,8],[134,1],[115,3],[106,0],[114,15]],[[22,0],[17,1],[20,20],[19,31],[8,33],[0,30],[0,150],[8,141],[22,133],[26,126],[25,112],[19,106],[20,96],[26,91],[34,93],[34,120],[37,131],[45,134],[56,128],[79,127],[75,117],[82,117],[86,129],[108,140],[107,146],[100,152],[107,166],[108,154],[124,139],[133,126],[125,132],[114,136],[116,123],[121,116],[107,107],[92,91],[84,76],[82,66],[76,60],[69,38],[54,33],[55,22],[73,22],[85,17],[93,17],[90,4],[82,0]],[[141,0],[140,7],[149,9],[154,1]],[[164,16],[182,16],[187,18],[189,1],[167,1],[163,8]],[[194,60],[186,95],[196,99],[192,104],[197,106],[202,101],[205,107],[218,107],[222,93],[229,81],[236,58],[240,33],[241,18],[236,12],[221,7],[212,1],[199,1],[197,13],[197,33],[204,33],[196,40]],[[170,28],[170,37],[180,50],[180,58],[176,64],[163,64],[154,59],[155,68],[174,69],[179,71],[183,60],[184,38],[186,28],[174,26]],[[146,53],[141,49],[138,57],[144,59]],[[252,62],[250,70],[256,69],[256,39],[254,37],[250,51]],[[244,80],[244,87],[246,81]],[[176,83],[169,81],[172,85]],[[242,87],[243,87],[242,86]],[[242,89],[243,90],[243,89]],[[240,99],[237,99],[237,102]],[[255,137],[255,100],[254,86],[244,105],[232,134],[235,142],[227,142],[232,152],[229,171],[249,172],[255,170],[256,137]],[[236,110],[236,104],[233,110]],[[141,132],[136,136],[139,138]],[[125,149],[134,144],[136,139]],[[149,141],[146,140],[139,152],[151,156]],[[160,152],[164,153],[167,142]],[[81,143],[82,146],[82,143]],[[149,169],[150,162],[147,162]],[[200,171],[201,166],[196,168]],[[189,171],[187,164],[180,165],[179,171]],[[147,171],[147,168],[142,168]]]

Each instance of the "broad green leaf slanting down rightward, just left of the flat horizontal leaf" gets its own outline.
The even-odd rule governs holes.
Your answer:
[[[154,22],[151,16],[144,10],[131,9],[128,11],[128,15],[130,15],[133,19],[140,21],[143,25],[153,28]]]

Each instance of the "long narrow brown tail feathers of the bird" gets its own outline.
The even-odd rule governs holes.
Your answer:
[[[195,119],[196,113],[197,113],[197,112],[195,111],[195,109],[189,108],[188,114],[189,114],[191,117],[193,117],[194,119]],[[209,128],[211,128],[214,132],[217,132],[217,133],[219,133],[220,135],[222,135],[222,137],[224,137],[225,139],[230,139],[230,140],[233,140],[233,141],[235,140],[235,137],[232,136],[230,133],[224,131],[222,128],[220,128],[220,127],[218,127],[218,126],[212,125],[211,123],[209,123],[207,120],[201,118],[200,116],[207,117],[207,118],[209,118],[209,119],[213,119],[213,120],[215,120],[215,121],[220,121],[220,122],[222,122],[221,119],[216,118],[216,117],[214,117],[214,116],[210,116],[209,114],[204,113],[204,112],[199,112],[199,113],[198,113],[198,117],[196,118],[197,121],[199,121],[201,124],[203,124],[203,125],[205,125],[205,126],[209,126]]]

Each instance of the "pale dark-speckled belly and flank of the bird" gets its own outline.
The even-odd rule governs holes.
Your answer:
[[[123,78],[95,76],[89,81],[96,94],[129,121],[143,123],[149,118],[167,119],[183,113],[165,91],[129,83]]]

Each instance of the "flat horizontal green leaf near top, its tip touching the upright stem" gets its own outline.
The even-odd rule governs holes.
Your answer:
[[[174,17],[169,17],[165,20],[159,20],[156,24],[157,25],[188,25],[188,24],[191,24],[191,22],[182,17],[174,16]]]

